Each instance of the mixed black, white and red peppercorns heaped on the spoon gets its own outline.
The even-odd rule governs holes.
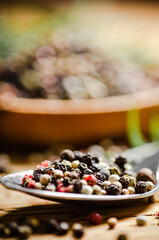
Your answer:
[[[128,195],[154,188],[155,176],[148,168],[137,175],[126,158],[117,156],[107,163],[81,151],[64,150],[59,159],[45,160],[25,175],[22,186],[48,191],[96,195]]]

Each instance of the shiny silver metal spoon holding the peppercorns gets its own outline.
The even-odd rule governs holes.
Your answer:
[[[132,195],[86,195],[86,194],[77,194],[77,193],[62,193],[62,192],[51,192],[46,190],[38,190],[38,189],[30,189],[21,186],[22,178],[25,174],[32,175],[33,170],[19,172],[19,173],[12,173],[6,175],[0,179],[0,182],[5,187],[17,190],[26,194],[30,194],[35,197],[57,201],[57,202],[64,202],[64,203],[71,203],[71,204],[93,204],[93,205],[117,205],[122,203],[127,203],[130,201],[136,201],[144,198],[148,198],[152,196],[155,192],[159,190],[159,152],[154,154],[151,157],[144,159],[139,164],[134,165],[134,171],[138,172],[141,168],[147,167],[150,168],[155,176],[156,176],[156,185],[154,189],[149,192],[142,193],[142,194],[132,194]]]

